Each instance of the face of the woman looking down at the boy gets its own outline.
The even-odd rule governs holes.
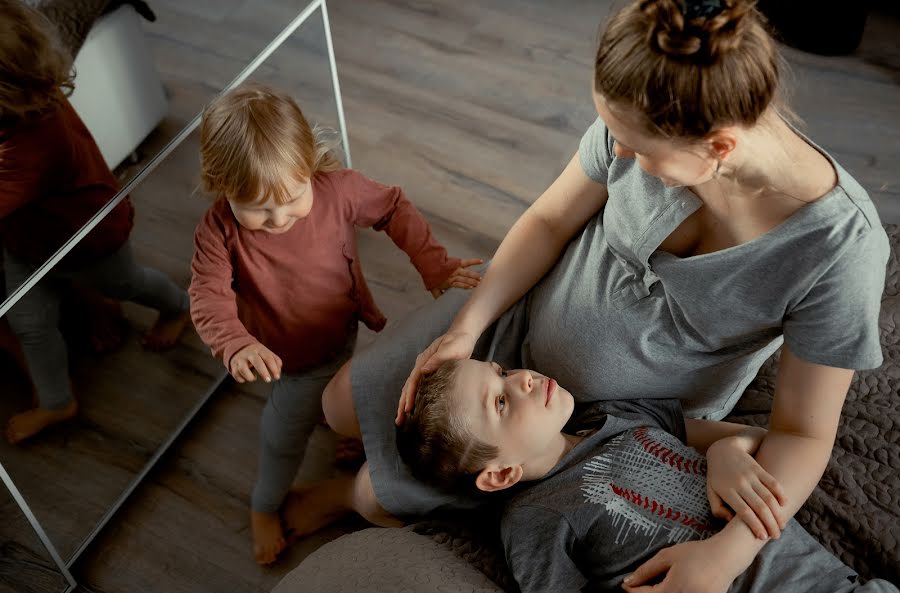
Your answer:
[[[594,105],[615,139],[617,158],[637,159],[641,169],[668,187],[700,185],[715,175],[718,159],[711,142],[703,140],[687,145],[653,136],[636,123],[637,117],[611,105],[596,92]]]

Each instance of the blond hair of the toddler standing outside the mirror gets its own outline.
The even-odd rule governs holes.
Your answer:
[[[270,197],[277,204],[289,202],[289,178],[303,182],[318,171],[341,168],[321,135],[287,93],[241,85],[203,110],[202,188],[239,204]]]

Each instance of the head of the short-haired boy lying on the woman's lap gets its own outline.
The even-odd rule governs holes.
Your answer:
[[[422,378],[397,444],[422,481],[493,492],[555,465],[574,406],[568,391],[534,371],[450,361]]]

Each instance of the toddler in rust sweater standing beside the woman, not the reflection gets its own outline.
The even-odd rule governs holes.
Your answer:
[[[246,84],[200,127],[201,183],[215,202],[197,226],[190,287],[200,337],[239,383],[272,392],[251,498],[254,555],[286,545],[278,514],[322,416],[322,391],[353,351],[360,321],[385,325],[362,274],[356,228],[384,231],[437,298],[472,288],[481,260],[449,257],[399,187],[342,168],[279,90]]]

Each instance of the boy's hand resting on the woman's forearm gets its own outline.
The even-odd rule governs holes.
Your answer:
[[[787,524],[783,509],[787,496],[778,480],[750,453],[740,436],[710,445],[706,451],[706,495],[716,517],[731,520],[736,512],[759,539],[777,539]]]

